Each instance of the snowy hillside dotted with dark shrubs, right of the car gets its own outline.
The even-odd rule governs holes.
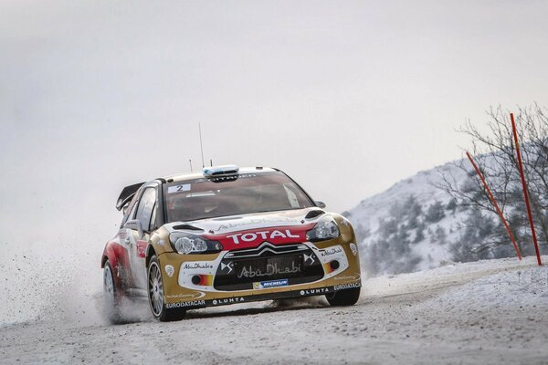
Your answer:
[[[353,222],[364,269],[370,275],[425,270],[451,261],[513,255],[511,245],[469,255],[472,247],[500,233],[495,216],[465,207],[438,186],[450,176],[458,186],[472,182],[474,172],[449,162],[418,172],[384,193],[364,199],[344,212]]]

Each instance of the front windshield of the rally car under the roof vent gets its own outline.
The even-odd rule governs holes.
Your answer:
[[[166,183],[163,196],[167,223],[313,206],[308,195],[283,172]]]

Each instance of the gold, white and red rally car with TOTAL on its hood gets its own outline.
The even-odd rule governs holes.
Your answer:
[[[125,187],[117,235],[101,258],[112,322],[122,299],[147,297],[154,318],[188,309],[324,295],[360,296],[353,227],[272,168],[218,166]]]

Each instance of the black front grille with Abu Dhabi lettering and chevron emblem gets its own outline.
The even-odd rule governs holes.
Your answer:
[[[217,290],[248,290],[253,283],[288,279],[288,285],[310,283],[323,277],[320,260],[306,245],[274,246],[228,253],[218,267]]]

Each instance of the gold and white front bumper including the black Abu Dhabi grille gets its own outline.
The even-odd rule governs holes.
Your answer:
[[[310,297],[361,287],[352,238],[342,235],[294,245],[265,242],[257,248],[213,255],[159,255],[165,308]]]

